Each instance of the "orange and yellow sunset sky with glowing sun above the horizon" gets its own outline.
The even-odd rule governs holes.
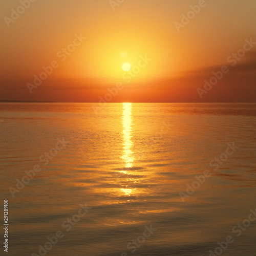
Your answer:
[[[255,102],[255,10],[255,0],[1,1],[0,99]]]

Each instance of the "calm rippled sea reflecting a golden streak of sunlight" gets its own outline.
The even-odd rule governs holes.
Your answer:
[[[256,255],[256,221],[232,231],[256,208],[256,104],[108,103],[95,114],[90,103],[1,103],[0,119],[8,255],[38,254],[57,231],[47,255],[201,256],[227,236],[223,255]],[[55,151],[58,139],[68,143]]]

